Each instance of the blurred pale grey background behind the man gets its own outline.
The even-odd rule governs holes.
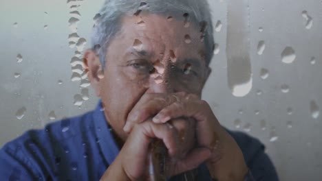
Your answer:
[[[1,0],[0,147],[94,109],[81,58],[103,1]],[[222,125],[266,145],[281,180],[322,180],[322,1],[209,3],[216,45],[203,99]],[[232,60],[241,45],[248,56]]]

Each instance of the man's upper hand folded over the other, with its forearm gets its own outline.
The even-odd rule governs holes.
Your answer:
[[[197,95],[144,95],[129,113],[124,130],[130,132],[133,125],[149,117],[160,124],[178,117],[195,119],[197,145],[211,150],[211,158],[206,161],[211,176],[217,180],[244,180],[248,168],[241,149],[219,124],[211,107]]]

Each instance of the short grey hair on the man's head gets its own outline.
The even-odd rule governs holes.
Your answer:
[[[104,69],[107,48],[111,40],[120,31],[122,18],[133,16],[138,10],[150,14],[173,16],[174,19],[189,14],[195,25],[201,26],[204,38],[206,65],[213,58],[214,38],[211,11],[207,0],[106,0],[100,12],[96,14],[96,24],[92,33],[92,49],[98,53]]]

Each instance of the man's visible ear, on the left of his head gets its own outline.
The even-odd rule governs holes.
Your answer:
[[[83,62],[89,82],[91,82],[96,95],[100,97],[100,84],[104,78],[100,58],[92,49],[87,49],[84,53]]]

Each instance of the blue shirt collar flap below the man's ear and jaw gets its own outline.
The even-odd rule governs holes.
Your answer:
[[[96,130],[96,142],[100,146],[101,152],[105,160],[107,160],[108,164],[114,161],[120,149],[114,140],[114,137],[111,133],[111,128],[109,127],[107,120],[105,119],[104,108],[102,101],[98,101],[98,105],[96,106],[93,114],[94,125]]]

